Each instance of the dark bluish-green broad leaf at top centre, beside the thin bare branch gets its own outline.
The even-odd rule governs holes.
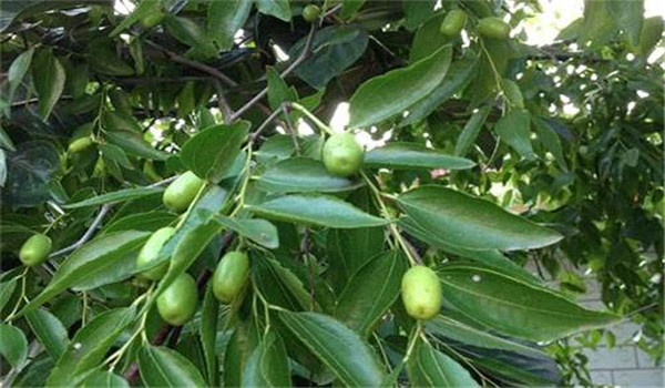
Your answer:
[[[307,37],[289,50],[297,58]],[[367,49],[367,31],[354,25],[334,25],[319,30],[311,42],[313,54],[296,69],[295,73],[311,88],[321,90],[335,76],[354,64]]]

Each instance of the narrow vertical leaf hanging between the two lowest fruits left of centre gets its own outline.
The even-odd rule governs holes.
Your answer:
[[[205,358],[205,368],[208,382],[216,387],[219,385],[219,374],[217,368],[217,355],[215,354],[215,341],[217,339],[217,320],[219,314],[219,302],[213,294],[213,283],[208,282],[203,307],[201,308],[201,345]]]

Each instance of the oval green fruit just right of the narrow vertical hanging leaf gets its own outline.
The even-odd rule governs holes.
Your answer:
[[[213,275],[213,293],[222,303],[231,303],[249,277],[249,258],[244,252],[229,252]]]

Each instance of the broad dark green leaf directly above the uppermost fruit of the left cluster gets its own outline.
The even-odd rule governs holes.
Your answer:
[[[208,127],[183,145],[181,161],[198,177],[217,183],[241,153],[241,145],[247,137],[249,126],[249,122],[239,121],[229,125]]]

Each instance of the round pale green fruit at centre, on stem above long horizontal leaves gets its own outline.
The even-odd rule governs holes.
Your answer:
[[[362,146],[350,133],[336,133],[324,145],[324,164],[330,174],[349,176],[362,164]]]

